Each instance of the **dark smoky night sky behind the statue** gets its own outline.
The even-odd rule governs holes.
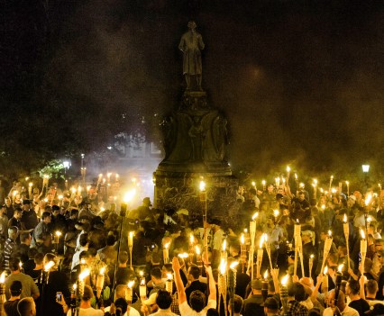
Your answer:
[[[183,92],[178,41],[193,19],[234,169],[346,174],[367,161],[384,171],[382,1],[5,3],[2,100],[29,115],[41,106],[58,131],[96,146],[122,113],[156,127]]]

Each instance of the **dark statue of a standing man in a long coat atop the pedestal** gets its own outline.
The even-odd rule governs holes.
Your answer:
[[[191,77],[195,76],[197,89],[201,91],[202,66],[200,50],[204,50],[205,45],[201,34],[196,32],[196,27],[194,21],[188,23],[189,30],[181,37],[178,49],[184,53],[183,75],[186,77],[187,90],[191,89]]]

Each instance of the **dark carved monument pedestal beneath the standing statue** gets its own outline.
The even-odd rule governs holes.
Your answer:
[[[207,212],[227,217],[236,200],[237,179],[227,162],[227,121],[204,91],[186,91],[177,111],[162,124],[165,158],[154,173],[155,204],[201,214],[199,184],[206,182]]]

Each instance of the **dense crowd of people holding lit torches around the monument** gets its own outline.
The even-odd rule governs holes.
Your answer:
[[[204,221],[185,209],[152,208],[149,197],[125,212],[114,196],[90,187],[81,194],[52,183],[28,192],[28,185],[15,181],[5,194],[0,264],[8,316],[384,314],[381,191],[347,196],[335,189],[310,197],[304,187],[293,193],[288,181],[264,190],[239,186],[233,197],[236,220],[225,221],[213,210]],[[250,265],[257,261],[256,251],[254,260],[249,258],[250,221],[256,222],[254,244],[263,249],[263,276]],[[303,257],[296,263],[295,225],[300,225]],[[270,260],[261,242],[265,237]],[[324,257],[330,237],[332,247]],[[361,239],[367,240],[363,266]],[[238,264],[233,291],[225,288],[225,295],[219,281],[224,258],[227,266]],[[86,269],[79,293],[74,284]],[[336,284],[338,273],[341,284]],[[283,309],[281,278],[287,274]]]

